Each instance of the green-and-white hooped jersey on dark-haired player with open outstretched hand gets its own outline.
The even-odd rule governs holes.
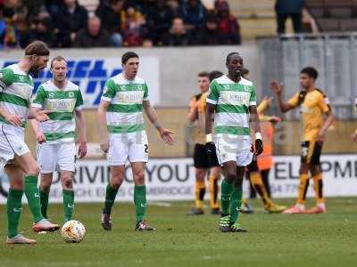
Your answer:
[[[148,100],[148,88],[144,79],[129,81],[120,73],[105,83],[102,100],[111,103],[106,110],[108,134],[145,131],[143,101]]]

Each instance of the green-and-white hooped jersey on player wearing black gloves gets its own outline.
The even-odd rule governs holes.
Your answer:
[[[227,76],[216,78],[210,85],[207,102],[216,105],[215,135],[234,134],[250,138],[249,106],[256,105],[253,83],[240,79],[235,83]]]

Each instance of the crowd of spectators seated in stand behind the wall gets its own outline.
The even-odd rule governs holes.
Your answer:
[[[34,40],[50,47],[240,44],[225,0],[101,0],[88,12],[77,0],[0,0],[0,49]]]

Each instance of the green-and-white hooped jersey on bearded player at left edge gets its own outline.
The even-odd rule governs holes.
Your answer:
[[[0,70],[0,107],[6,112],[21,116],[21,127],[26,126],[29,116],[34,83],[32,77],[19,68],[18,64],[7,66]],[[0,116],[0,121],[5,122]]]

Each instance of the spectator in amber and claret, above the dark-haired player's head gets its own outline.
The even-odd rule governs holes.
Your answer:
[[[145,35],[145,18],[133,6],[129,6],[121,15],[121,32],[124,46],[140,46]]]

